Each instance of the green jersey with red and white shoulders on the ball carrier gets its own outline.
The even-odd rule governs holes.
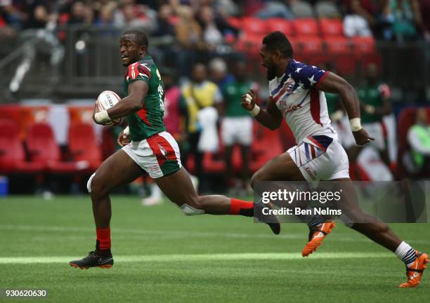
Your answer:
[[[129,94],[129,85],[133,81],[145,81],[148,93],[143,108],[126,117],[130,128],[131,141],[141,141],[166,130],[163,123],[164,88],[157,66],[151,56],[145,56],[126,69],[124,76],[124,97]]]

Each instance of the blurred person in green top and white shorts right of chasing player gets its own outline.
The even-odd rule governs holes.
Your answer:
[[[378,67],[374,64],[367,65],[366,84],[358,90],[361,102],[361,122],[374,141],[369,146],[376,147],[382,161],[390,167],[387,133],[383,118],[391,114],[390,88],[379,80]]]

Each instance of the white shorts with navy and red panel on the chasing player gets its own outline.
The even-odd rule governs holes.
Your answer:
[[[349,177],[348,156],[337,138],[309,136],[287,152],[308,182]]]

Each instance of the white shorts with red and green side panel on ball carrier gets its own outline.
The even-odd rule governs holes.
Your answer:
[[[176,173],[182,167],[178,143],[165,131],[131,141],[122,150],[153,179]]]

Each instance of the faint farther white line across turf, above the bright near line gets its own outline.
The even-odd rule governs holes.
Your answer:
[[[263,228],[268,228],[261,224]],[[59,226],[37,226],[37,225],[13,225],[13,224],[0,224],[0,230],[11,230],[11,231],[52,231],[52,232],[83,232],[83,233],[94,233],[94,229],[82,228],[82,227],[59,227]],[[284,233],[278,236],[273,234],[241,234],[232,232],[216,232],[216,231],[171,231],[171,230],[136,230],[136,229],[120,229],[112,228],[112,235],[115,234],[129,234],[136,236],[157,236],[160,238],[189,238],[190,236],[195,237],[225,237],[225,238],[285,238],[285,239],[306,239],[307,233],[288,233],[288,225],[283,226]],[[336,237],[330,237],[330,241],[341,241],[341,242],[369,242],[367,238],[359,236],[359,234],[346,234],[337,233],[334,230]],[[426,240],[408,240],[413,243],[429,243]]]

